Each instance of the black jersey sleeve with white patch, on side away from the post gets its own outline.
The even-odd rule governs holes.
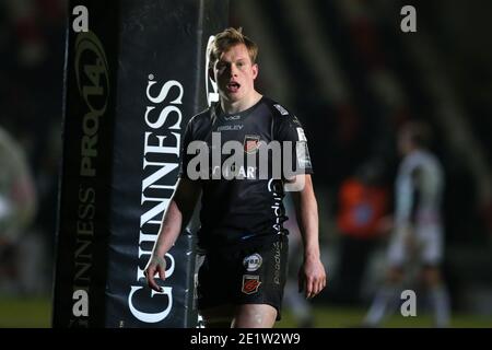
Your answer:
[[[284,143],[289,141],[292,145],[292,164],[296,164],[296,174],[313,174],[313,164],[311,161],[307,138],[303,126],[297,117],[292,114],[282,113],[277,116],[277,127],[274,128],[274,139]],[[282,148],[289,150],[289,148]]]

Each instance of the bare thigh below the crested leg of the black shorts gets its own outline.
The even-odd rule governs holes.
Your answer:
[[[243,304],[236,307],[233,328],[272,328],[277,308],[267,304]]]

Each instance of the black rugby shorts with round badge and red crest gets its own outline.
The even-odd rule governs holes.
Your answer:
[[[280,320],[288,253],[285,235],[247,247],[209,250],[198,271],[198,310],[226,304],[268,304],[277,310],[277,320]]]

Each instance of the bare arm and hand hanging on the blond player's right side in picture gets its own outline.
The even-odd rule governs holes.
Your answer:
[[[301,184],[292,192],[301,236],[304,244],[304,259],[298,271],[300,292],[304,290],[307,299],[314,298],[326,285],[326,272],[320,259],[318,234],[318,206],[309,174],[295,176]]]

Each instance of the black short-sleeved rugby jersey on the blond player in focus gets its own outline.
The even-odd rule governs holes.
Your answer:
[[[220,143],[216,142],[219,139]],[[236,141],[235,151],[230,153],[239,151],[244,166],[227,163],[231,154],[220,154],[215,158],[220,163],[212,160],[211,153],[221,150],[226,141]],[[267,176],[260,176],[259,173],[260,165],[265,163],[260,162],[260,150],[271,141],[291,141],[293,164],[290,170],[313,173],[301,122],[268,97],[261,97],[250,108],[236,114],[223,113],[220,104],[215,103],[188,122],[184,137],[180,177],[198,180],[202,188],[201,228],[198,232],[200,248],[230,247],[255,242],[255,238],[288,234],[283,228],[283,222],[288,220],[282,203],[284,178],[279,178],[278,173],[273,174],[272,170],[273,164],[279,166],[279,159],[283,155],[278,156],[277,153],[277,156],[273,156],[273,152],[270,152],[267,160],[268,172],[262,173]],[[190,143],[201,143],[201,152],[208,151],[208,164],[197,162],[195,152],[188,154]],[[280,150],[282,154],[285,152],[282,148]],[[248,162],[251,156],[256,159],[256,163]],[[198,171],[203,173],[197,179]],[[231,178],[234,175],[236,177]]]

